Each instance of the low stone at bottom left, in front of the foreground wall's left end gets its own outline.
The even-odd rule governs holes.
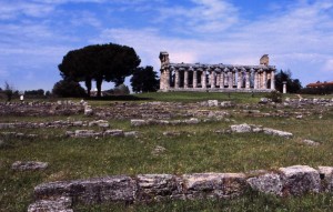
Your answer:
[[[29,205],[28,212],[73,212],[72,199],[62,196],[56,200],[40,200]]]

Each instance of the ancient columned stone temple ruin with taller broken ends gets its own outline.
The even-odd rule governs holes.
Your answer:
[[[160,52],[160,91],[269,92],[275,90],[275,67],[264,54],[259,65],[172,63]]]

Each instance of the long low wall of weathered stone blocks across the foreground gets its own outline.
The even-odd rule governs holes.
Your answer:
[[[293,165],[276,171],[113,175],[43,183],[34,188],[28,211],[72,211],[74,204],[151,202],[160,200],[229,199],[249,189],[278,196],[332,192],[333,168]]]

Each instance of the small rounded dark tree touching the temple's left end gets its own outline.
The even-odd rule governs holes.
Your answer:
[[[131,85],[134,92],[155,92],[159,89],[158,73],[152,67],[140,67],[131,78]]]

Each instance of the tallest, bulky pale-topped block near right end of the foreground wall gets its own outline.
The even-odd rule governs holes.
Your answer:
[[[307,192],[320,192],[321,182],[319,172],[307,165],[293,165],[280,168],[281,178],[284,181],[284,195],[301,195]]]

